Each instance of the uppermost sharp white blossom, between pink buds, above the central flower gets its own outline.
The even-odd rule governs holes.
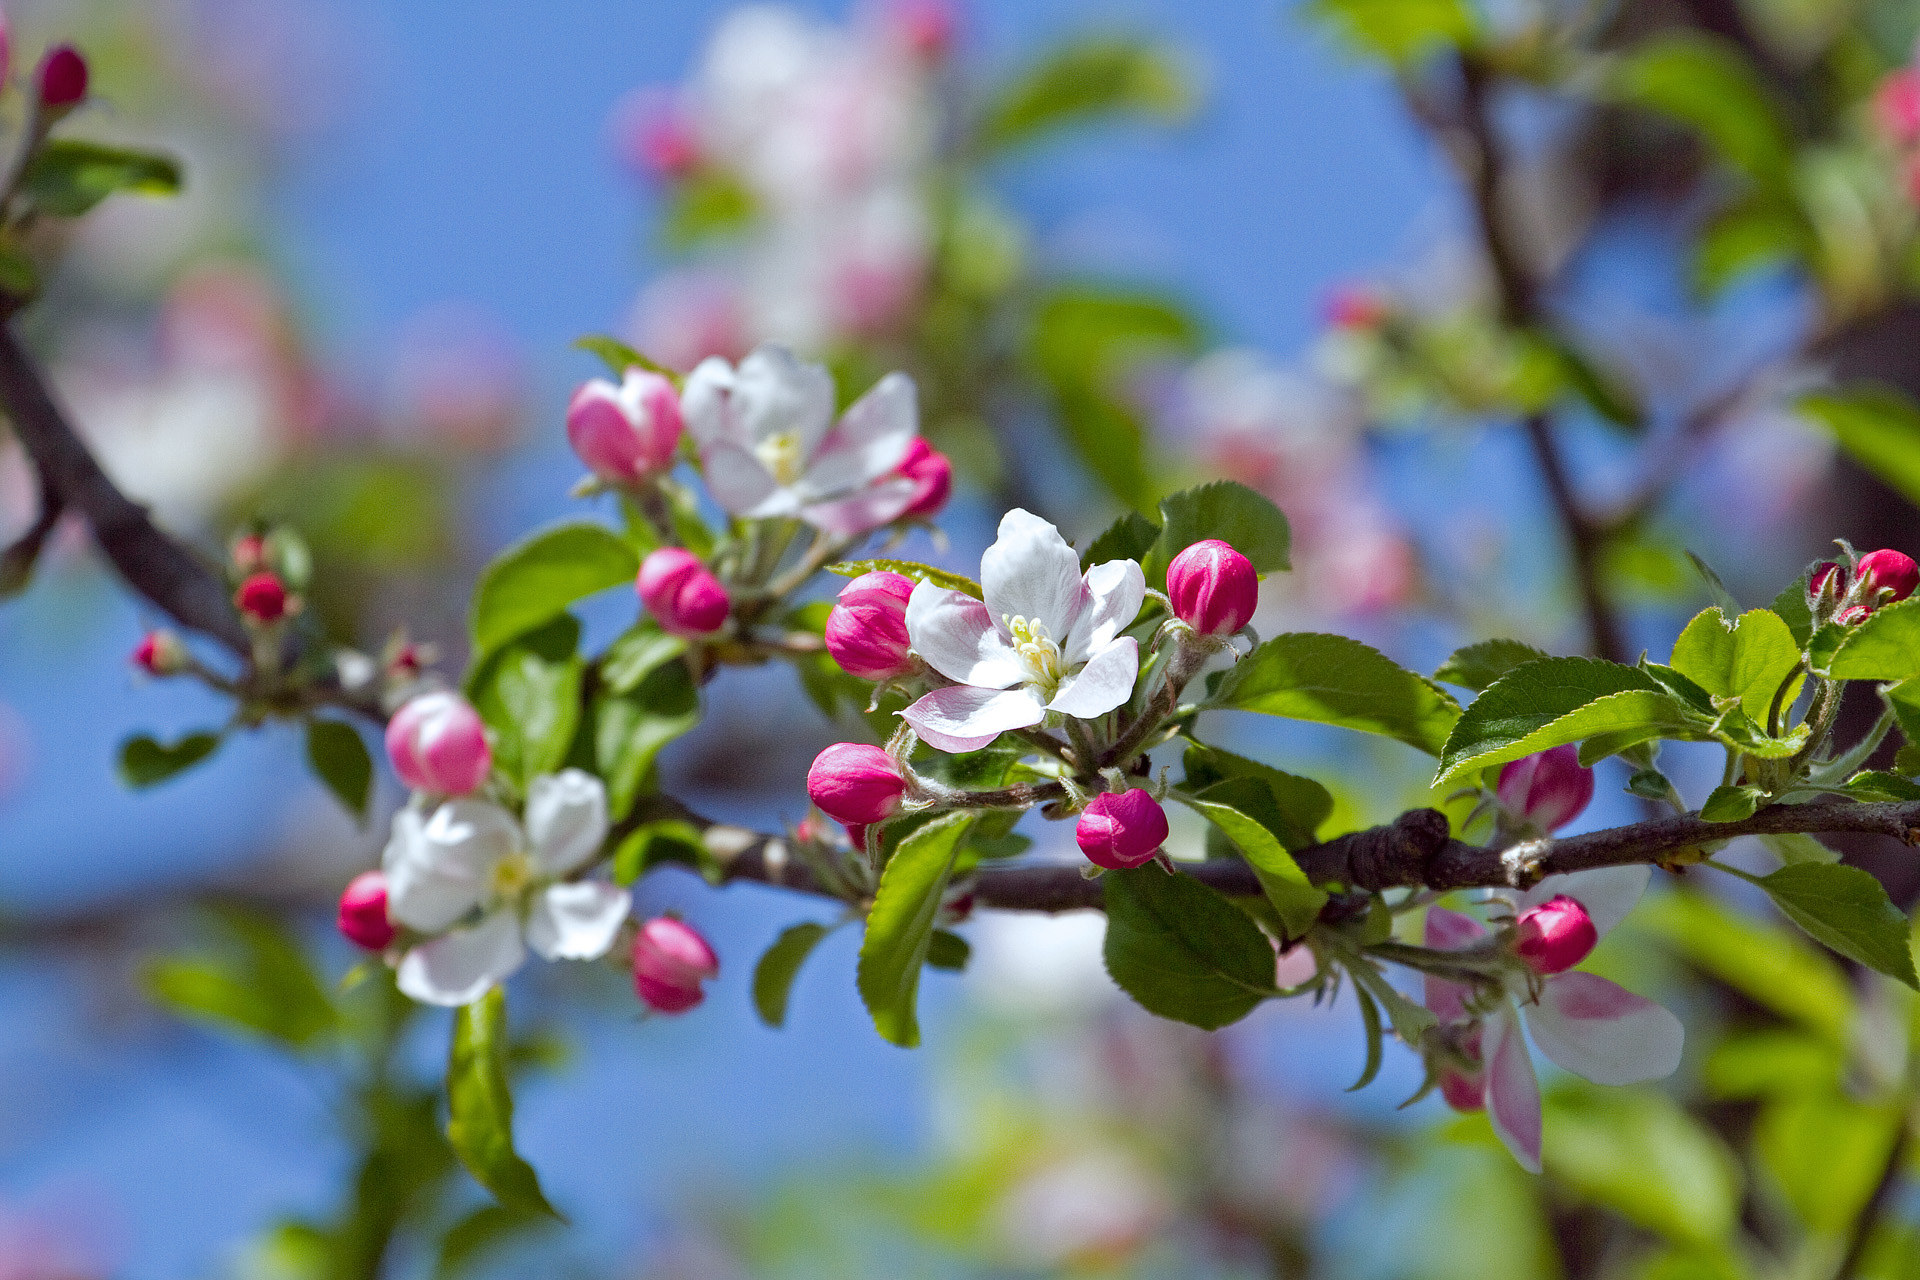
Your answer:
[[[914,382],[887,374],[833,422],[833,376],[785,347],[708,357],[680,399],[714,501],[749,520],[799,516],[833,535],[887,524],[914,501],[897,474],[920,434]]]

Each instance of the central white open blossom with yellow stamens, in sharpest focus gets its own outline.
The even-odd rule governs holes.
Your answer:
[[[941,750],[977,750],[1060,712],[1089,720],[1129,697],[1139,645],[1121,631],[1140,612],[1146,576],[1133,560],[1081,574],[1060,530],[1018,507],[979,562],[985,603],[922,581],[906,637],[947,679],[900,716]]]

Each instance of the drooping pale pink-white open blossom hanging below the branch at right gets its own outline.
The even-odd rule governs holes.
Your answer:
[[[1496,898],[1505,900],[1521,919],[1555,902],[1572,902],[1594,940],[1599,940],[1640,900],[1647,875],[1651,871],[1644,865],[1549,875],[1526,892],[1501,890]],[[1572,915],[1565,908],[1555,912]],[[1444,908],[1427,912],[1427,946],[1459,950],[1484,936],[1486,927],[1473,917]],[[1559,938],[1559,958],[1569,946],[1576,950],[1584,944],[1584,936]],[[1519,938],[1519,946],[1526,948],[1528,940]],[[1442,1025],[1465,1032],[1461,1040],[1478,1061],[1476,1073],[1442,1069],[1448,1103],[1471,1105],[1476,1077],[1478,1102],[1494,1132],[1524,1169],[1540,1173],[1540,1084],[1521,1034],[1523,1023],[1549,1061],[1596,1084],[1638,1084],[1672,1075],[1686,1032],[1680,1019],[1661,1006],[1594,973],[1551,973],[1536,979],[1534,990],[1513,979],[1488,1002],[1463,983],[1427,975],[1427,1007]]]

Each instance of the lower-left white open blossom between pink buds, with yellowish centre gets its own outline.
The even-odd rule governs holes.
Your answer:
[[[536,777],[526,825],[488,800],[447,800],[394,816],[388,913],[438,938],[399,961],[399,988],[426,1004],[470,1004],[526,961],[597,960],[632,906],[618,885],[566,881],[607,839],[607,789],[591,773]],[[453,927],[474,908],[476,923]],[[445,933],[442,933],[445,931]]]

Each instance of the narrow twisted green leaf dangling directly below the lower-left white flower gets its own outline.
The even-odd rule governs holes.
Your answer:
[[[540,1174],[513,1150],[507,1084],[507,996],[499,986],[453,1013],[447,1054],[447,1142],[467,1173],[509,1209],[566,1221],[547,1203]]]

